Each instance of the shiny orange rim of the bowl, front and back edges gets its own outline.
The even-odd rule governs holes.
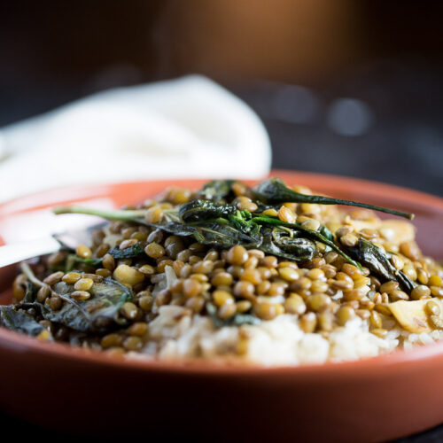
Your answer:
[[[443,198],[434,196],[419,190],[411,190],[400,186],[372,182],[369,180],[363,180],[360,178],[354,178],[350,176],[341,175],[326,175],[317,173],[306,173],[299,171],[290,171],[282,169],[274,169],[271,171],[270,176],[281,176],[283,178],[291,179],[297,177],[300,181],[304,179],[309,181],[328,181],[328,183],[335,186],[345,188],[353,185],[358,188],[359,194],[361,190],[369,189],[369,194],[373,198],[379,198],[386,195],[392,195],[392,193],[399,193],[396,195],[396,199],[401,203],[414,203],[416,207],[429,208],[433,206],[434,209],[441,210],[443,214]],[[7,216],[2,215],[2,210],[13,204],[20,199],[28,199],[33,196],[44,195],[52,193],[54,195],[60,192],[69,192],[70,190],[92,190],[90,195],[92,197],[97,196],[93,190],[113,190],[119,186],[124,185],[149,185],[150,183],[186,183],[186,182],[205,182],[202,178],[177,178],[177,179],[164,179],[164,180],[146,180],[146,181],[134,181],[134,182],[120,182],[120,183],[90,183],[82,185],[71,185],[60,188],[53,188],[51,190],[44,190],[41,192],[35,192],[33,194],[27,194],[19,198],[5,201],[0,204],[0,218]],[[254,180],[245,180],[245,182],[254,182]],[[51,206],[49,204],[43,204],[43,206],[32,206],[34,209]],[[26,207],[22,210],[26,210]],[[13,211],[14,214],[22,212],[22,210]],[[295,365],[278,365],[278,366],[263,366],[260,364],[249,363],[235,363],[227,364],[226,362],[219,361],[205,361],[194,360],[190,358],[181,358],[175,360],[159,361],[150,357],[121,357],[116,358],[105,354],[99,350],[82,349],[80,347],[73,347],[63,343],[44,343],[35,338],[14,332],[12,330],[6,330],[0,328],[0,346],[9,348],[15,353],[34,353],[40,354],[42,357],[62,359],[65,361],[75,362],[88,362],[89,364],[99,365],[104,367],[113,367],[120,369],[133,369],[144,370],[150,372],[164,372],[164,373],[182,373],[182,374],[196,374],[198,376],[260,376],[260,375],[293,375],[294,377],[319,377],[323,379],[332,377],[358,377],[361,373],[361,369],[370,370],[371,372],[377,370],[393,369],[399,367],[399,365],[415,365],[417,362],[429,361],[432,359],[439,359],[443,363],[443,340],[434,342],[425,346],[416,347],[410,350],[395,350],[392,353],[377,355],[374,357],[365,357],[353,361],[327,361],[324,363],[309,363],[299,366]]]

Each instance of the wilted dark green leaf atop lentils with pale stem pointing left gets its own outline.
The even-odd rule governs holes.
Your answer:
[[[323,236],[322,230],[307,229],[299,223],[287,223],[269,215],[253,216],[248,211],[239,211],[237,206],[217,204],[209,200],[192,200],[180,206],[179,209],[171,209],[168,211],[167,217],[164,217],[158,223],[146,222],[140,211],[101,209],[93,211],[91,208],[79,206],[55,209],[55,214],[67,213],[93,214],[109,220],[134,221],[165,230],[176,236],[194,237],[202,245],[224,248],[244,245],[247,248],[258,248],[265,253],[273,253],[287,260],[296,261],[310,260],[313,257],[315,245],[312,240],[315,240],[337,251],[354,266],[360,266],[335,245],[333,240],[330,239],[331,234],[326,227],[322,229],[328,237]],[[263,229],[263,227],[270,227],[271,229]],[[278,227],[286,229],[279,232],[276,241],[275,238],[270,236],[273,229]],[[299,237],[300,232],[303,233],[304,242],[285,239],[285,237]]]

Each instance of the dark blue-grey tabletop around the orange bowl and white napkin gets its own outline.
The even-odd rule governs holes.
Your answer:
[[[441,196],[440,79],[426,66],[380,62],[318,89],[273,82],[228,86],[265,122],[273,167],[352,175]],[[4,80],[1,72],[0,80]],[[94,91],[91,84],[97,84],[93,79],[51,79],[36,88],[6,80],[0,82],[0,126],[82,97]],[[0,427],[19,430],[23,438],[70,438],[5,413],[0,413]],[[398,441],[443,441],[443,426]]]

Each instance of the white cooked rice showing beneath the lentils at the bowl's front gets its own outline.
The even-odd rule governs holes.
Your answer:
[[[178,306],[163,306],[150,323],[147,345],[137,358],[160,360],[183,358],[242,361],[265,366],[301,365],[324,361],[350,361],[393,351],[410,349],[443,338],[443,332],[413,334],[400,328],[389,317],[384,328],[389,332],[379,338],[369,332],[369,323],[360,317],[329,334],[305,333],[299,328],[297,315],[278,315],[260,325],[227,326],[215,329],[205,316],[186,315]],[[237,354],[237,344],[247,336],[245,354]]]

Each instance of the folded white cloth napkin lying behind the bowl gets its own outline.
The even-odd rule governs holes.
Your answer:
[[[253,110],[191,75],[111,89],[1,129],[0,201],[74,183],[260,178],[270,159]]]

